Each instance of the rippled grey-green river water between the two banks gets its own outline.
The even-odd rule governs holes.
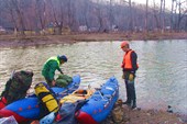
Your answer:
[[[138,106],[165,111],[170,105],[174,112],[187,114],[187,40],[133,41],[130,45],[139,56]],[[41,70],[45,60],[63,54],[68,57],[68,63],[61,66],[64,74],[80,75],[82,88],[88,84],[99,88],[116,76],[120,98],[125,100],[120,68],[123,52],[118,41],[0,48],[0,91],[13,70],[32,70],[34,77],[30,92],[33,92],[35,83],[44,81]]]

